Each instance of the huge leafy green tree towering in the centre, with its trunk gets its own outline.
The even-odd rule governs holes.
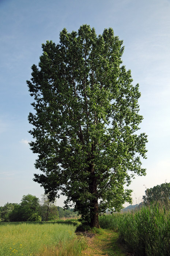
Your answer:
[[[38,154],[34,181],[50,200],[67,196],[65,207],[91,226],[99,227],[98,214],[106,208],[120,210],[131,203],[134,174],[145,175],[145,133],[137,133],[139,84],[122,65],[122,41],[113,29],[102,35],[88,25],[78,32],[60,32],[60,42],[42,44],[38,67],[32,66],[27,81],[34,97],[29,114]]]

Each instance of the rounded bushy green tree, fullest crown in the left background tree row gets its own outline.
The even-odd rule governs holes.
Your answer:
[[[30,194],[24,195],[21,203],[15,205],[14,210],[10,213],[10,221],[27,221],[32,214],[39,211],[39,199]]]

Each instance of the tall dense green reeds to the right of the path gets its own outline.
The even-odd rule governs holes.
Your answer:
[[[140,210],[101,216],[102,228],[119,233],[119,241],[135,256],[170,255],[170,205],[151,204]]]

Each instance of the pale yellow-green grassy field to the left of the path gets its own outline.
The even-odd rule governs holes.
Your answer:
[[[75,251],[76,248],[80,251],[81,243],[77,242],[75,236],[77,225],[78,223],[71,221],[0,224],[0,255],[40,256],[59,255],[57,254],[59,252],[62,255],[62,250],[58,250],[58,248],[61,246],[66,248],[68,242],[72,245],[75,244]],[[56,252],[56,254],[52,254],[52,252]]]

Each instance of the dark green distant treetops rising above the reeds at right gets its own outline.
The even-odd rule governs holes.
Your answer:
[[[170,183],[162,183],[156,185],[153,188],[147,188],[146,195],[143,196],[144,203],[152,203],[155,201],[161,201],[164,203],[170,202]]]

